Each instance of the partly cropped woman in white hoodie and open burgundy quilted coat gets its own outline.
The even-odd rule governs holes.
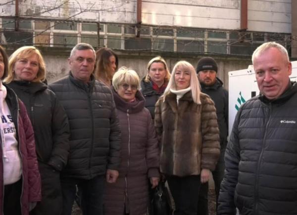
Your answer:
[[[0,79],[7,75],[0,46]],[[28,215],[41,200],[34,133],[26,107],[0,81],[0,215]]]

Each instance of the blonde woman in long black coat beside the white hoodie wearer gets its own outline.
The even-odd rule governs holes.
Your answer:
[[[24,102],[33,125],[42,178],[42,201],[31,215],[59,215],[62,210],[60,171],[67,163],[69,125],[55,94],[43,83],[45,62],[34,46],[18,48],[9,58],[4,82]]]

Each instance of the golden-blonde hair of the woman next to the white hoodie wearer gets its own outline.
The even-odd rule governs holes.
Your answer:
[[[3,80],[5,83],[10,83],[15,78],[15,72],[14,72],[14,65],[15,62],[22,58],[28,58],[31,57],[33,54],[37,54],[38,56],[38,66],[39,70],[37,72],[37,77],[32,80],[32,82],[40,82],[46,80],[46,64],[43,59],[43,56],[41,55],[40,51],[34,47],[34,46],[23,46],[18,49],[16,49],[8,60],[8,74],[7,77]]]

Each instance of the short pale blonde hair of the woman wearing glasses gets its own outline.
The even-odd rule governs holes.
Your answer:
[[[137,73],[126,67],[121,67],[119,70],[114,74],[112,78],[112,86],[115,91],[118,90],[121,84],[128,84],[128,85],[135,85],[137,89],[139,88],[140,79]]]

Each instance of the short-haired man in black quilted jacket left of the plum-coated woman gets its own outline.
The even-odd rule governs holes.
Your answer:
[[[76,185],[84,215],[102,215],[106,181],[113,183],[120,164],[120,128],[109,87],[95,80],[94,48],[77,44],[71,51],[68,76],[49,87],[61,101],[70,124],[70,153],[61,172],[63,213],[71,215]]]

